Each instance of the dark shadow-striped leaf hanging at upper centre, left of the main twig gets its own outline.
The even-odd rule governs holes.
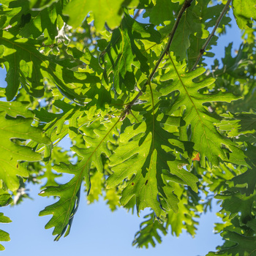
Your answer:
[[[148,74],[147,58],[140,52],[136,39],[159,43],[161,35],[154,30],[154,25],[138,23],[125,14],[120,28],[113,31],[110,43],[101,54],[107,74],[113,72],[113,86],[118,94],[135,88],[132,66]]]

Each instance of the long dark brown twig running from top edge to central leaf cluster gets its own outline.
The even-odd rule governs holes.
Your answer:
[[[143,84],[142,89],[140,89],[140,91],[138,92],[138,94],[135,96],[134,99],[132,99],[132,101],[129,103],[129,105],[127,106],[127,108],[124,110],[124,113],[122,114],[122,116],[126,116],[127,112],[129,111],[129,109],[132,107],[132,105],[135,104],[135,102],[138,100],[138,98],[143,94],[144,89],[146,88],[146,86],[148,85],[148,83],[152,80],[152,78],[154,77],[155,72],[157,72],[157,69],[159,67],[159,64],[161,63],[162,59],[165,57],[165,54],[167,53],[167,51],[170,48],[171,43],[173,42],[173,37],[174,34],[176,32],[176,29],[178,27],[178,23],[181,20],[181,16],[183,15],[183,13],[185,12],[185,10],[187,10],[187,8],[191,5],[193,0],[186,0],[184,2],[184,4],[181,7],[181,10],[178,12],[178,16],[176,18],[176,22],[173,25],[173,29],[172,31],[170,31],[169,34],[169,39],[167,42],[167,45],[165,45],[165,49],[162,51],[157,64],[155,65],[153,71],[151,72],[151,74],[148,76],[148,80],[146,80],[146,82]]]

